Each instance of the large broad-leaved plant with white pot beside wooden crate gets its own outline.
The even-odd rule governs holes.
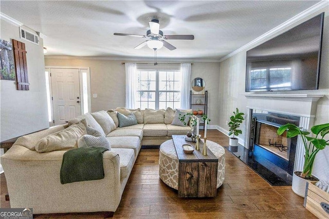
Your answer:
[[[310,131],[315,135],[315,137],[307,136],[310,133],[302,131],[298,126],[294,124],[285,124],[281,126],[277,133],[282,135],[287,131],[287,138],[293,138],[297,135],[300,135],[302,143],[304,145],[305,154],[304,154],[304,167],[302,171],[295,171],[293,175],[293,191],[304,197],[306,182],[315,182],[319,181],[317,177],[312,175],[313,163],[315,156],[320,150],[323,150],[326,145],[329,145],[329,140],[325,140],[324,137],[329,134],[329,123],[314,125]]]

